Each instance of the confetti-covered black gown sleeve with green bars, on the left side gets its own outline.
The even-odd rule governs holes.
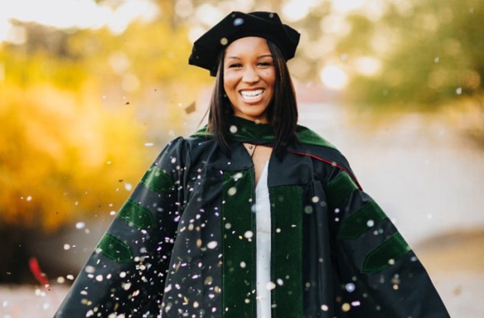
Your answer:
[[[163,149],[102,236],[55,317],[158,315],[180,215],[184,140]],[[117,315],[114,315],[117,317]]]

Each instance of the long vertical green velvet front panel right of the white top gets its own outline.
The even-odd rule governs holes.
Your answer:
[[[303,317],[302,201],[299,186],[272,187],[271,292],[272,318]]]

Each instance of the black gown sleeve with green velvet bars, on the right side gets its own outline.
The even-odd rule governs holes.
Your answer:
[[[342,158],[326,178],[336,317],[445,318],[427,271]]]

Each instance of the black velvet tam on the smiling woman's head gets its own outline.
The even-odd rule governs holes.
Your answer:
[[[286,60],[294,57],[299,37],[295,29],[283,24],[277,13],[234,11],[197,39],[188,64],[200,66],[216,75],[218,55],[241,37],[263,37],[276,44]]]

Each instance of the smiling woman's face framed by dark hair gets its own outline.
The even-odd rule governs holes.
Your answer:
[[[243,37],[233,41],[223,59],[223,88],[234,115],[266,123],[274,95],[276,72],[266,39]]]

